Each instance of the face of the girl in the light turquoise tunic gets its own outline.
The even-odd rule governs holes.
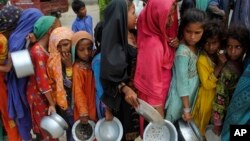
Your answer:
[[[203,34],[202,23],[190,23],[184,28],[183,39],[188,46],[195,46]]]

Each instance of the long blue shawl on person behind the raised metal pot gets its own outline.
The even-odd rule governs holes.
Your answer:
[[[10,52],[25,49],[26,37],[33,30],[34,23],[42,16],[41,11],[29,8],[23,11],[15,31],[8,40]],[[19,122],[19,132],[23,140],[31,140],[32,120],[26,99],[28,77],[18,79],[14,69],[7,74],[8,113]]]

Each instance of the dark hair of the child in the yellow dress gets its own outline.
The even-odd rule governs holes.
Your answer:
[[[204,44],[206,43],[207,39],[211,39],[211,38],[218,38],[220,44],[222,45],[224,42],[224,28],[223,25],[221,23],[219,23],[218,20],[212,20],[209,21],[205,24],[205,28],[204,28],[204,33],[202,35],[201,38],[201,46],[204,46]]]

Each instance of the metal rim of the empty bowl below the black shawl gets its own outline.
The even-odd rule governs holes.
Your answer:
[[[98,120],[98,122],[96,123],[96,126],[95,126],[95,137],[96,137],[96,140],[97,141],[103,141],[99,135],[99,127],[100,125],[105,121],[105,118],[102,118],[100,120]],[[120,122],[120,120],[116,117],[113,118],[113,121],[115,121],[120,129],[120,133],[118,135],[118,138],[116,141],[120,141],[122,139],[122,135],[123,135],[123,127],[122,127],[122,124]]]

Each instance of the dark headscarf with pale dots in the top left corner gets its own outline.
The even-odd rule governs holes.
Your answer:
[[[22,9],[15,6],[5,6],[0,10],[0,32],[15,28]]]

